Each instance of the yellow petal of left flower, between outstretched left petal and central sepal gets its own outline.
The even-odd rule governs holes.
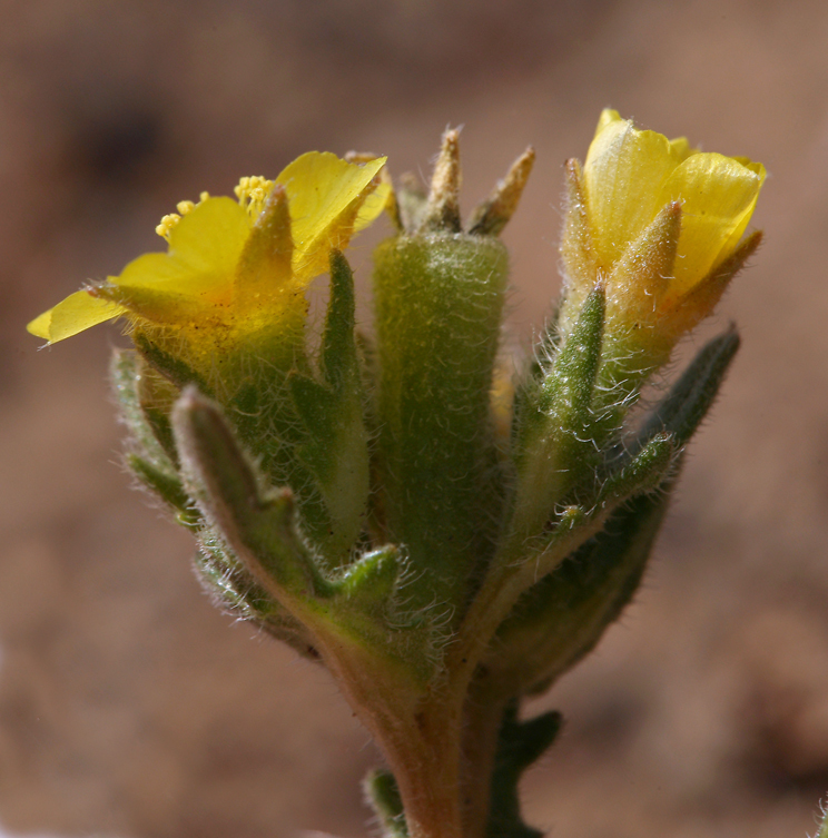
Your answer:
[[[129,288],[155,288],[193,297],[195,303],[229,300],[236,264],[249,233],[250,219],[244,207],[231,198],[208,198],[170,230],[168,253],[139,256],[109,282],[126,296]],[[146,293],[141,296],[146,298]]]

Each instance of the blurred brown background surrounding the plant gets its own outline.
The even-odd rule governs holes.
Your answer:
[[[767,245],[708,329],[736,318],[745,345],[648,583],[534,708],[568,726],[526,809],[562,838],[812,832],[828,790],[827,91],[817,0],[0,2],[2,827],[351,838],[377,761],[327,677],[214,612],[187,534],[129,491],[107,401],[117,329],[38,353],[24,323],[161,249],[154,227],[183,198],[310,148],[427,172],[451,124],[466,206],[538,148],[505,234],[525,341],[558,293],[561,164],[609,105],[762,160]]]

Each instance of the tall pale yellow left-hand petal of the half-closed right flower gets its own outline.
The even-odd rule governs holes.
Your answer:
[[[687,142],[671,144],[655,131],[639,131],[615,111],[601,115],[583,177],[595,252],[604,269],[621,258],[667,203],[659,203],[661,187],[688,149]]]

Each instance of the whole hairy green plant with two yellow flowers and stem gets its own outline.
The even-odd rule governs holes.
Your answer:
[[[312,152],[235,200],[181,201],[167,253],[29,324],[55,343],[126,318],[129,466],[194,533],[218,604],[338,680],[387,759],[366,782],[387,838],[540,836],[518,782],[560,717],[520,702],[635,592],[735,332],[649,416],[630,407],[759,243],[761,165],[604,111],[566,165],[558,317],[505,383],[497,236],[534,152],[464,224],[459,149],[447,131],[427,195],[392,193],[384,158]],[[341,250],[383,208],[366,336]]]

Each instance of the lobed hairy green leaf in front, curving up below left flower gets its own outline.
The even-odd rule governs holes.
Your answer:
[[[431,677],[434,630],[428,620],[411,620],[406,603],[396,602],[396,548],[373,551],[338,575],[331,573],[302,538],[290,490],[263,490],[213,402],[188,388],[172,425],[187,493],[267,597],[313,637],[324,633],[337,654],[351,650],[382,659],[382,666],[417,682]]]

